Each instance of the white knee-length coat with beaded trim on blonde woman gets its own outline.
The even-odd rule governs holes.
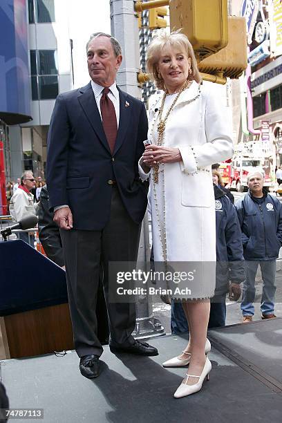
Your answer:
[[[181,93],[169,115],[163,145],[177,147],[182,161],[160,165],[163,172],[160,172],[156,184],[156,198],[153,171],[150,172],[149,202],[155,261],[164,260],[160,232],[167,239],[167,261],[216,261],[211,165],[231,158],[233,143],[226,108],[210,88],[209,84],[205,84],[200,86],[199,91],[199,85],[193,82],[190,88]],[[169,101],[168,97],[167,100],[162,118],[173,99]],[[153,144],[157,144],[158,140],[156,129],[161,102],[162,96],[149,112],[148,138]],[[141,166],[140,178],[148,178],[148,173],[144,173]],[[202,294],[203,297],[210,297],[213,292],[208,289]]]

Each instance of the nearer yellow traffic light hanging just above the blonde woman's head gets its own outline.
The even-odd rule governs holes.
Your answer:
[[[181,29],[201,60],[228,42],[227,0],[170,0],[171,31]]]

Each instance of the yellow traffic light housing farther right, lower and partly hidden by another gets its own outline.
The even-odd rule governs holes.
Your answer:
[[[238,78],[247,67],[247,35],[245,18],[228,17],[228,44],[218,53],[198,64],[200,72]]]

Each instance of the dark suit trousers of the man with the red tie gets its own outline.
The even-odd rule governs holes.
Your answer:
[[[79,357],[102,355],[97,337],[97,290],[100,263],[109,315],[111,346],[130,346],[135,328],[135,303],[109,301],[109,290],[116,290],[116,279],[109,280],[111,261],[136,261],[141,225],[134,223],[126,211],[118,187],[112,189],[111,214],[106,226],[98,231],[61,230],[68,303],[71,311],[75,350]]]

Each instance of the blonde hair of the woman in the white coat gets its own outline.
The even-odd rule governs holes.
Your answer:
[[[187,57],[191,59],[191,73],[188,75],[187,79],[190,81],[195,80],[198,84],[200,84],[200,82],[202,82],[202,78],[200,77],[200,73],[198,71],[195,53],[186,35],[179,32],[179,30],[171,32],[171,34],[168,34],[165,31],[159,31],[158,35],[153,37],[147,48],[147,68],[154,79],[156,87],[165,91],[164,80],[159,76],[157,70],[158,61],[160,60],[160,52],[164,46],[180,47],[185,51],[185,53],[187,53]]]

